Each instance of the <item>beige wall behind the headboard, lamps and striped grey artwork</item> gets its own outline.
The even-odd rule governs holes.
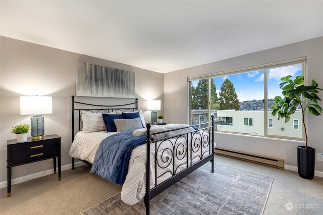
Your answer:
[[[134,71],[138,106],[143,110],[147,122],[150,122],[150,112],[146,111],[146,100],[159,99],[163,104],[164,75],[161,73],[1,37],[1,187],[7,186],[7,140],[16,139],[11,133],[11,128],[18,123],[30,124],[30,116],[20,116],[19,96],[22,95],[52,96],[53,113],[44,115],[45,135],[58,134],[62,137],[62,166],[71,164],[68,152],[72,143],[71,95],[75,95],[76,61]],[[112,103],[129,101],[121,98],[82,97],[80,99],[99,103],[100,101]],[[133,101],[133,99],[130,100]],[[163,114],[163,107],[159,113]],[[49,168],[52,168],[52,162],[47,161],[14,167],[12,179],[23,177],[26,171],[25,175],[30,175]],[[64,174],[62,177],[64,178]]]

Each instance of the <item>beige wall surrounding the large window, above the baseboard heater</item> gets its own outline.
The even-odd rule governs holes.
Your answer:
[[[239,48],[239,47],[237,47]],[[323,37],[306,40],[290,45],[250,53],[224,61],[187,68],[164,76],[164,113],[173,123],[187,123],[187,77],[239,69],[265,63],[278,62],[293,58],[307,57],[308,80],[315,79],[323,88]],[[310,83],[310,82],[309,82]],[[323,92],[320,93],[323,98]],[[319,104],[323,106],[323,102]],[[321,129],[323,117],[308,115],[309,146],[323,153]],[[265,156],[284,159],[285,167],[295,170],[297,167],[296,146],[303,142],[269,139],[246,135],[216,133],[217,146]],[[316,162],[315,170],[323,172],[323,162]],[[323,173],[321,174],[323,177]]]

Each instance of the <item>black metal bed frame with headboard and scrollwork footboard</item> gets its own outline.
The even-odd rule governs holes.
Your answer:
[[[138,110],[138,99],[135,99],[135,102],[133,103],[128,103],[128,104],[121,104],[121,105],[98,105],[98,104],[89,104],[89,103],[83,103],[83,102],[78,102],[74,100],[75,96],[72,96],[72,141],[74,140],[74,136],[75,136],[75,115],[74,113],[77,112],[78,113],[78,121],[79,121],[79,128],[78,130],[81,130],[81,115],[82,115],[82,111],[91,111],[91,112],[113,112],[116,110],[121,110],[121,111],[136,111]],[[82,108],[82,109],[75,109],[74,104],[78,103],[78,104],[82,104],[82,105],[89,105],[89,106],[93,106],[93,107],[100,107],[100,108]],[[129,108],[129,106],[133,105],[133,108]],[[211,122],[207,122],[207,123],[202,123],[202,124],[198,124],[198,125],[194,125],[194,126],[188,126],[186,128],[189,127],[196,127],[197,130],[192,131],[192,132],[186,132],[186,133],[182,133],[180,135],[175,135],[172,137],[169,137],[167,139],[161,139],[161,140],[151,140],[151,136],[152,135],[157,135],[157,134],[161,134],[164,132],[155,132],[152,133],[150,132],[150,128],[151,125],[150,124],[146,124],[146,128],[147,128],[147,132],[146,132],[146,157],[147,157],[147,161],[146,161],[146,194],[144,197],[144,202],[145,202],[145,206],[146,206],[146,214],[149,214],[149,201],[150,199],[152,199],[153,197],[155,197],[156,195],[158,195],[159,193],[163,192],[164,190],[166,190],[167,188],[171,187],[173,184],[175,184],[176,182],[178,182],[179,180],[181,180],[182,178],[186,177],[187,175],[189,175],[190,173],[192,173],[193,171],[195,171],[196,169],[198,169],[199,167],[203,166],[204,164],[206,164],[207,162],[211,162],[211,172],[213,173],[214,171],[214,162],[213,162],[213,148],[214,148],[214,144],[213,144],[213,140],[214,140],[214,118],[212,116],[211,118]],[[179,129],[183,129],[183,128],[179,128]],[[167,132],[170,131],[175,131],[175,130],[179,130],[179,129],[173,129],[173,130],[168,130]],[[193,138],[196,137],[196,135],[200,135],[200,139],[195,139],[195,141],[193,142]],[[183,143],[177,143],[178,140],[180,139],[185,139],[186,141],[186,145],[184,145]],[[175,142],[172,142],[171,139]],[[196,141],[197,140],[197,141]],[[163,144],[164,142],[171,142],[171,144],[173,145],[172,148],[168,149],[163,149],[163,151],[158,151],[158,145]],[[158,145],[157,145],[158,143]],[[151,146],[154,146],[155,148],[155,157],[154,157],[154,180],[155,180],[155,184],[154,187],[150,189],[150,150],[151,150]],[[176,147],[175,147],[176,146]],[[208,148],[208,151],[206,151],[207,153],[205,154],[205,151],[202,151],[202,148]],[[188,150],[188,148],[190,148],[190,150]],[[166,155],[164,155],[164,153],[168,151],[168,153],[166,153]],[[170,157],[169,152],[171,151],[172,156]],[[195,156],[193,156],[193,153],[198,153],[198,155],[195,154]],[[159,154],[159,158],[157,157],[157,155]],[[190,158],[189,158],[190,157]],[[195,159],[196,157],[199,158],[199,161],[192,164],[192,160]],[[182,163],[181,166],[186,165],[185,169],[178,172],[177,173],[177,168],[175,168],[175,158],[177,160],[181,160],[186,158],[186,162]],[[72,157],[72,169],[75,169],[74,166],[74,162],[75,162],[75,158]],[[87,162],[86,160],[82,160],[82,162],[84,162],[87,165],[92,165],[89,162]],[[161,163],[161,164],[160,164]],[[166,166],[163,164],[166,164]],[[161,182],[160,184],[157,183],[157,169],[167,169],[169,167],[169,165],[173,165],[173,170],[167,171],[168,173],[172,174],[172,177],[167,179],[164,182]],[[165,174],[165,173],[164,173]],[[159,176],[160,177],[160,176]]]

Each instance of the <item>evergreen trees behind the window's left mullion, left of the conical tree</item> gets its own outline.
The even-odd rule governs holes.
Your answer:
[[[192,109],[207,109],[208,79],[199,80],[197,86],[191,86]],[[211,104],[218,102],[217,87],[211,79]]]

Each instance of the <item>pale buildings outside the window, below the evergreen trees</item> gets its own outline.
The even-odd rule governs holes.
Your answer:
[[[264,111],[235,111],[235,110],[211,110],[211,115],[216,119],[216,130],[248,134],[256,136],[288,136],[302,138],[302,112],[296,111],[291,115],[288,123],[284,119],[278,120],[267,112],[267,120],[264,122]],[[207,122],[207,110],[192,110],[192,125]]]

